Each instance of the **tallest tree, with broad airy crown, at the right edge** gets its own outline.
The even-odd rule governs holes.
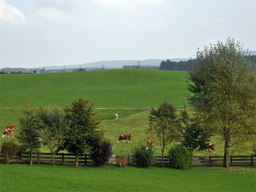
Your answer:
[[[241,146],[256,133],[255,72],[247,52],[234,39],[218,41],[198,50],[189,71],[190,104],[204,117],[205,128],[225,141],[225,168],[229,148]]]

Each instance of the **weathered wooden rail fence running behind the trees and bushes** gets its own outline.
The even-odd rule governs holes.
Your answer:
[[[132,155],[127,155],[130,164],[133,164],[134,158]],[[155,164],[161,165],[162,156],[154,156]],[[19,164],[20,162],[30,162],[30,155],[28,153],[19,154],[13,157],[12,162]],[[3,158],[0,158],[0,162],[3,162]],[[51,153],[35,153],[32,155],[33,163],[52,163]],[[56,164],[75,164],[75,156],[69,153],[57,153],[55,157]],[[78,158],[78,163],[83,165],[92,164],[91,158],[88,156],[82,156]],[[256,155],[250,156],[229,156],[229,165],[255,165]],[[116,164],[115,155],[112,155],[107,164]],[[222,165],[223,156],[193,156],[192,165],[205,165],[205,166],[214,166]],[[168,156],[164,156],[164,166],[169,166],[170,162]]]

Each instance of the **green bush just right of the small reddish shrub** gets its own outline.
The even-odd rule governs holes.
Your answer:
[[[133,149],[134,163],[140,165],[142,168],[147,168],[154,165],[154,151],[153,147],[149,146],[147,149],[141,142],[138,147]]]

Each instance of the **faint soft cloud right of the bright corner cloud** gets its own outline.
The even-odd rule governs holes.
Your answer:
[[[57,21],[62,21],[66,19],[63,11],[53,7],[40,8],[36,14],[40,17]]]

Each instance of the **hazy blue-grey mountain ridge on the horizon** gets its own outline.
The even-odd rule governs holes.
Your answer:
[[[162,61],[166,61],[167,59],[146,59],[140,60],[140,65],[150,65],[150,66],[160,66]],[[189,58],[173,58],[169,59],[170,61],[187,61]],[[137,63],[136,63],[137,62]],[[84,64],[74,64],[74,65],[63,65],[65,68],[83,68],[83,67],[103,67],[103,64],[107,68],[122,68],[124,65],[137,65],[138,60],[116,60],[116,61],[96,61],[91,63]],[[63,66],[46,66],[46,67],[36,67],[39,69],[45,68],[48,69],[63,69]]]

